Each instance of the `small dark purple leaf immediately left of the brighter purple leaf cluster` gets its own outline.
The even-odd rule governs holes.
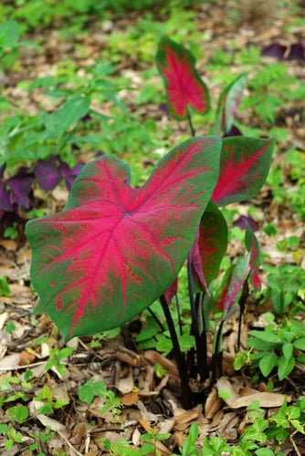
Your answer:
[[[16,173],[16,176],[11,177],[6,181],[12,191],[12,202],[20,204],[24,209],[28,209],[30,205],[29,194],[31,192],[32,183],[35,179],[33,173],[29,173],[27,168],[23,167]]]

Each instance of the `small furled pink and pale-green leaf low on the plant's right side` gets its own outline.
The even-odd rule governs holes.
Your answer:
[[[230,310],[232,304],[241,290],[244,282],[247,278],[249,268],[250,255],[237,258],[236,264],[234,264],[229,280],[224,286],[220,299],[217,303],[218,310],[224,312],[224,318]]]

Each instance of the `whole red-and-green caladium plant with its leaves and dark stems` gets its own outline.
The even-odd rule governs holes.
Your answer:
[[[195,136],[190,108],[204,114],[210,103],[208,89],[195,69],[195,57],[163,38],[156,60],[170,112],[175,119],[187,118]],[[218,132],[234,129],[246,78],[239,76],[221,95],[216,109]],[[201,380],[210,375],[206,349],[209,303],[222,311],[211,361],[213,381],[216,372],[221,375],[220,341],[226,316],[238,301],[241,322],[248,281],[259,286],[260,261],[258,240],[245,218],[248,253],[237,258],[221,285],[216,285],[227,246],[226,220],[219,207],[258,194],[273,148],[274,140],[243,136],[186,140],[155,165],[140,188],[131,187],[131,171],[118,158],[103,155],[85,165],[63,211],[26,225],[33,254],[31,277],[40,298],[36,312],[51,316],[68,339],[121,326],[160,298],[184,408],[191,407],[191,368],[180,349],[170,312],[179,285],[177,276],[186,260],[191,334]],[[67,180],[67,170],[52,159],[37,163],[38,181],[39,172],[45,169],[50,173],[50,179],[42,183],[46,190],[59,179]],[[150,312],[153,314],[152,309]]]

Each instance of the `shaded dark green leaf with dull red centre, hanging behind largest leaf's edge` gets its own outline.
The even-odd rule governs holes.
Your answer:
[[[198,251],[206,284],[216,279],[226,254],[226,219],[214,202],[209,202],[199,225]]]

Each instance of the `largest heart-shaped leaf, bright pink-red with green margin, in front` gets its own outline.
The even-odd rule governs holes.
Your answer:
[[[174,282],[215,187],[221,140],[184,141],[132,188],[130,168],[87,164],[62,212],[26,225],[33,285],[65,337],[121,326]]]

